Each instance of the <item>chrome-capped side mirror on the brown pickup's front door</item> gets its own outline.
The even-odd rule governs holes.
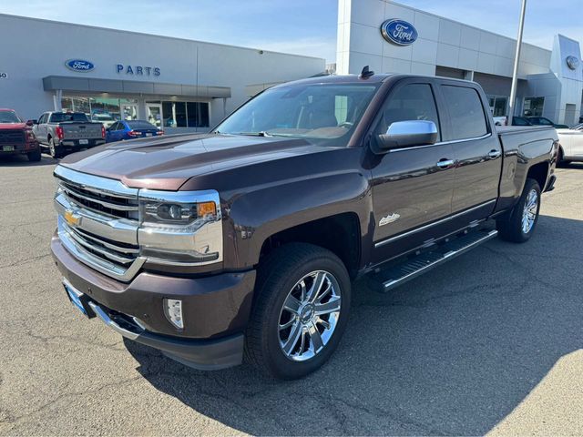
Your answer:
[[[393,148],[427,146],[437,142],[437,127],[433,121],[408,120],[391,123],[386,134],[376,138],[380,151]]]

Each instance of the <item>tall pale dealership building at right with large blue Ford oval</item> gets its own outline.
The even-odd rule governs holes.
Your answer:
[[[401,27],[391,26],[386,35],[383,25],[391,21]],[[358,74],[368,65],[384,73],[475,80],[495,116],[507,115],[516,46],[515,39],[390,1],[338,3],[338,74]],[[515,115],[577,123],[583,99],[580,58],[578,41],[567,36],[555,36],[552,50],[523,44]]]

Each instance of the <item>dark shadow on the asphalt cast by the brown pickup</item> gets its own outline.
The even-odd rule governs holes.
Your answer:
[[[537,226],[527,244],[492,240],[388,294],[360,280],[339,349],[301,381],[126,347],[156,389],[241,432],[484,434],[583,341],[583,221]]]

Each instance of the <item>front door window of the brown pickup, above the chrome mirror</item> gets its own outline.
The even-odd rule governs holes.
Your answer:
[[[384,103],[375,133],[384,134],[394,122],[410,120],[433,121],[437,127],[438,138],[441,138],[435,98],[429,84],[405,85],[390,94]]]

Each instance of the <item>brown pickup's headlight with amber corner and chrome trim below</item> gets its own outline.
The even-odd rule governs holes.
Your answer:
[[[222,260],[220,198],[216,191],[139,191],[141,254],[163,264]]]

